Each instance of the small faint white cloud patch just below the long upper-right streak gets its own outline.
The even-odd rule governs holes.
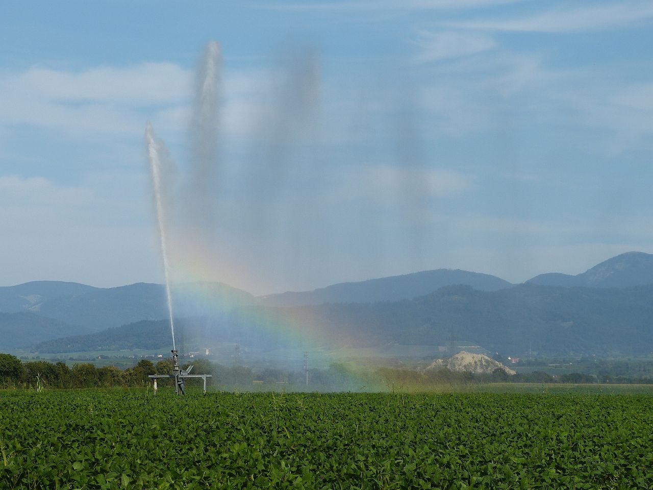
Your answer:
[[[460,31],[420,31],[419,37],[416,43],[420,50],[414,58],[418,63],[467,56],[496,45],[494,39],[485,34]]]

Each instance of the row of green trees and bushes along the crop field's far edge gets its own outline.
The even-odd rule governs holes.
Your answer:
[[[573,372],[551,376],[545,372],[509,375],[502,368],[494,372],[476,374],[454,372],[447,368],[415,370],[406,368],[360,368],[348,363],[333,363],[327,369],[306,372],[289,372],[265,368],[253,370],[244,366],[227,367],[206,359],[196,359],[193,373],[212,374],[209,384],[220,389],[308,389],[310,391],[358,391],[383,390],[392,387],[436,388],[443,385],[469,385],[496,382],[516,383],[612,383],[651,384],[653,378],[626,376],[596,376]],[[183,365],[182,367],[187,367]],[[68,367],[65,363],[31,361],[23,363],[14,355],[0,353],[0,387],[3,388],[110,388],[144,387],[150,383],[150,374],[171,374],[172,360],[163,359],[152,363],[148,359],[138,361],[126,369],[115,366],[96,367],[92,363],[77,363]],[[172,386],[172,380],[158,381],[159,386]],[[188,385],[199,385],[202,380],[188,379]]]

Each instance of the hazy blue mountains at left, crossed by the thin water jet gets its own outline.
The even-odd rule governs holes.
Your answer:
[[[226,284],[198,282],[174,290],[179,316],[219,314],[255,298]],[[136,283],[92,287],[38,281],[0,287],[0,351],[63,336],[88,335],[141,320],[167,318],[165,287]]]

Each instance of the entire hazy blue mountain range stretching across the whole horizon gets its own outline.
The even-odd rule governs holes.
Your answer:
[[[507,342],[513,350],[523,352],[526,348],[524,342],[511,340],[511,335],[523,337],[523,332],[513,331],[510,335],[504,335],[510,331],[510,325],[519,323],[515,317],[517,315],[522,318],[522,324],[539,325],[540,331],[545,325],[546,336],[549,337],[559,334],[560,329],[566,328],[565,325],[582,325],[580,330],[583,333],[578,334],[580,337],[576,336],[578,328],[565,332],[567,337],[570,333],[574,334],[569,338],[575,339],[575,344],[581,346],[582,351],[591,351],[601,346],[597,346],[596,342],[590,342],[591,345],[584,340],[581,342],[581,338],[584,333],[591,336],[595,328],[605,331],[608,328],[605,325],[607,319],[617,325],[614,331],[620,331],[618,325],[623,323],[629,325],[628,329],[647,335],[646,321],[653,320],[653,312],[641,309],[648,301],[647,284],[653,284],[653,255],[629,252],[608,259],[577,276],[541,274],[520,286],[488,274],[449,269],[263,297],[253,297],[246,291],[225,284],[204,282],[176,287],[174,306],[176,316],[180,318],[202,317],[212,321],[219,318],[219,330],[223,333],[230,328],[251,327],[255,334],[257,319],[290,314],[293,318],[300,318],[300,321],[313,322],[312,327],[318,330],[330,332],[327,337],[341,335],[358,344],[360,339],[367,338],[374,339],[370,342],[434,345],[433,342],[445,342],[445,336],[453,329],[462,329],[462,325],[467,325],[465,328],[485,325],[485,333],[492,331],[492,335],[468,328],[465,338],[479,344],[483,340],[484,346],[492,348],[499,347],[498,339],[503,339],[502,342]],[[447,306],[451,302],[447,288],[459,285],[467,287],[461,290],[465,293],[454,296],[465,298],[458,304],[466,306],[452,310],[451,304]],[[624,288],[635,288],[636,291],[624,293]],[[579,292],[581,290],[585,292]],[[449,300],[441,299],[443,291]],[[523,291],[549,292],[528,295]],[[559,301],[552,301],[550,295]],[[645,300],[633,306],[628,300],[633,295]],[[650,300],[653,304],[653,297]],[[426,309],[420,313],[416,305],[427,303],[430,306],[424,306]],[[411,304],[411,308],[406,310],[407,305]],[[613,309],[606,309],[606,304]],[[635,309],[628,310],[631,307]],[[556,316],[553,312],[559,312],[560,308],[565,314],[553,318]],[[3,348],[32,346],[63,336],[92,335],[121,325],[167,317],[163,286],[144,283],[98,288],[70,282],[41,281],[0,287],[0,311],[5,312],[0,315],[0,351]],[[416,318],[426,312],[434,320],[422,318],[422,323],[416,325]],[[250,319],[245,321],[244,318]],[[284,320],[281,318],[279,321]],[[375,325],[374,332],[370,330],[372,324]],[[601,338],[608,340],[605,335]],[[626,338],[631,342],[629,336]],[[532,338],[531,347],[533,341]],[[620,343],[619,339],[615,341]],[[564,348],[551,338],[537,342],[539,350]],[[628,350],[629,347],[622,345],[620,349]],[[571,351],[574,351],[573,346]]]

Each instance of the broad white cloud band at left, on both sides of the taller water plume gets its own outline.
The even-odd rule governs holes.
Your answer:
[[[223,76],[225,133],[242,136],[251,130],[277,78],[278,74],[261,70],[230,71]],[[32,67],[0,73],[0,131],[31,125],[69,136],[113,138],[140,135],[146,120],[151,120],[160,133],[182,137],[191,114],[191,82],[191,71],[172,63],[80,72]]]

